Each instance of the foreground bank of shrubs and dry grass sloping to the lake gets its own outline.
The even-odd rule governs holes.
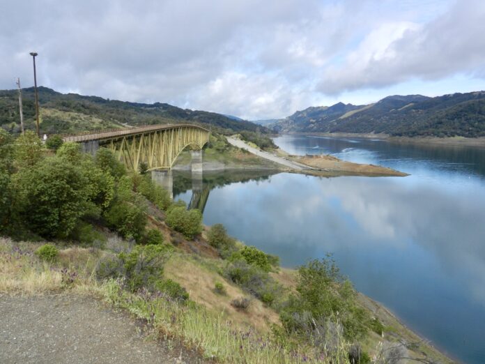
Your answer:
[[[367,309],[332,257],[286,271],[108,149],[1,129],[0,149],[0,293],[93,294],[222,363],[443,359]]]

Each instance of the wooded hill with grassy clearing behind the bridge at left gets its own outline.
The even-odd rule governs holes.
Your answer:
[[[183,122],[202,123],[226,133],[245,130],[269,132],[242,119],[235,120],[215,112],[181,109],[167,103],[131,103],[77,93],[64,94],[43,86],[38,87],[38,94],[42,117],[40,130],[46,134]],[[24,123],[26,128],[35,129],[33,87],[22,89],[22,95]],[[0,90],[0,127],[10,132],[20,132],[17,97],[17,90]]]

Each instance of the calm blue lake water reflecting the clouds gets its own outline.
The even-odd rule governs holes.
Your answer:
[[[204,222],[221,222],[283,266],[333,253],[359,291],[410,328],[460,361],[485,363],[485,149],[309,136],[275,142],[293,154],[411,175],[207,175]],[[187,181],[174,181],[189,201],[191,192],[180,192]]]

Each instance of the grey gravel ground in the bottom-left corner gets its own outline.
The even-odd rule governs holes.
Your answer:
[[[203,363],[94,298],[0,294],[0,363]]]

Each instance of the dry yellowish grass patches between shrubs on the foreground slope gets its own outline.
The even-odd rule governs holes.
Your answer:
[[[319,357],[311,344],[293,342],[282,334],[278,314],[261,301],[253,299],[247,311],[233,308],[231,301],[245,296],[245,292],[221,277],[219,272],[224,261],[219,259],[179,250],[171,255],[164,267],[164,277],[187,289],[192,300],[188,304],[145,290],[130,293],[122,289],[119,280],[96,280],[95,268],[100,259],[112,251],[130,249],[121,238],[111,237],[108,241],[108,250],[75,246],[62,249],[58,245],[56,261],[46,262],[34,254],[42,243],[17,243],[0,238],[0,294],[69,291],[96,296],[146,320],[160,338],[176,338],[220,363],[348,363],[349,344],[338,335],[332,357]],[[293,270],[280,268],[270,274],[289,289],[295,286]],[[215,282],[223,282],[224,296],[215,292]],[[383,344],[390,347],[399,344],[399,340],[419,341],[380,305],[362,295],[360,301],[385,325],[386,339],[371,333],[360,343],[369,354],[374,353],[377,358]],[[450,362],[425,342],[419,343],[416,353],[437,358],[442,363]]]

